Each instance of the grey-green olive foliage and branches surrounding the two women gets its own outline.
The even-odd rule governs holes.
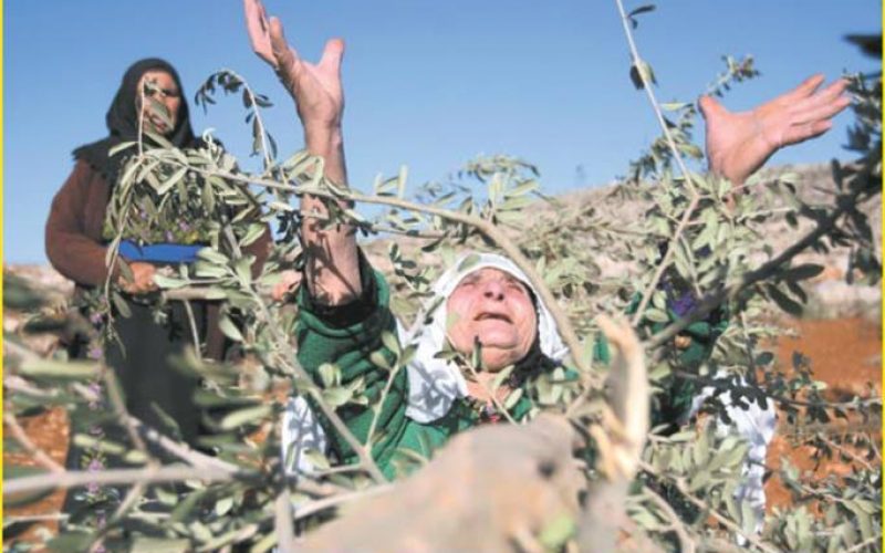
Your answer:
[[[175,436],[174,421],[158,434],[125,413],[113,373],[101,359],[105,341],[115,340],[113,324],[107,323],[127,311],[114,282],[79,300],[77,313],[87,313],[83,319],[60,314],[38,292],[8,279],[7,307],[34,312],[25,332],[77,332],[92,341],[92,358],[81,361],[67,359],[61,351],[41,357],[19,336],[4,336],[8,428],[20,430],[18,418],[55,406],[72,417],[91,417],[92,427],[73,436],[87,451],[82,471],[65,470],[22,432],[10,432],[7,450],[31,455],[38,468],[22,474],[8,470],[7,505],[33,501],[56,487],[86,487],[84,498],[94,509],[90,517],[66,521],[51,543],[61,551],[217,551],[239,544],[260,552],[287,550],[293,535],[310,535],[335,518],[341,505],[391,489],[371,456],[373,440],[384,429],[372,425],[361,442],[336,409],[361,406],[377,414],[414,348],[384,336],[393,357],[372,357],[388,378],[381,392],[367,393],[358,380],[342,385],[333,365],[311,378],[296,361],[292,304],[269,296],[281,270],[303,263],[301,221],[317,216],[299,211],[296,198],[311,194],[329,200],[330,225],[353,225],[374,240],[367,249],[385,251],[393,309],[404,322],[430,298],[435,278],[459,250],[496,250],[523,269],[553,306],[571,349],[569,363],[581,373],[577,385],[555,372],[530,382],[531,416],[558,413],[579,431],[576,451],[584,461],[581,473],[589,494],[600,482],[616,479],[613,444],[623,432],[618,406],[606,400],[607,367],[592,356],[597,314],[629,314],[648,359],[653,409],[680,387],[717,390],[702,409],[706,415],[671,420],[645,437],[646,446],[635,459],[641,470],[620,500],[628,515],[620,523],[625,540],[653,543],[663,551],[736,549],[738,539],[763,551],[876,549],[882,532],[882,459],[876,447],[881,398],[871,392],[832,403],[814,380],[808,359],[795,356],[794,366],[784,372],[762,344],[778,333],[767,315],[773,310],[801,314],[806,302],[802,282],[822,270],[795,262],[799,253],[850,246],[855,271],[847,278],[879,278],[881,258],[862,208],[879,201],[882,190],[881,75],[850,77],[855,124],[848,146],[857,159],[833,161],[836,189],[829,201],[803,200],[803,182],[789,174],[774,179],[753,176],[741,185],[750,194],[735,194],[730,182],[687,168],[693,164],[685,158],[701,158],[693,136],[698,115],[694,103],[660,104],[654,96],[654,72],[633,40],[638,18],[653,9],[638,8],[623,19],[633,54],[631,76],[649,94],[664,134],[629,164],[627,177],[601,205],[545,197],[538,170],[510,156],[475,159],[444,181],[412,191],[402,169],[376,179],[372,194],[361,194],[325,179],[323,160],[305,152],[278,159],[261,118],[270,101],[231,71],[211,75],[197,93],[197,103],[212,104],[221,94],[241,97],[252,153],[262,158],[262,169],[240,169],[210,135],[194,150],[171,148],[158,136],[123,145],[128,161],[108,207],[106,232],[110,267],[116,263],[123,239],[209,244],[196,263],[158,275],[162,292],[152,301],[159,322],[170,302],[222,306],[220,328],[235,344],[229,358],[204,359],[195,348],[178,359],[180,371],[204,383],[194,401],[211,429],[202,445],[212,455],[165,437]],[[726,71],[706,92],[725,94],[757,75],[751,59],[725,61]],[[386,211],[369,220],[358,211],[365,205],[385,206]],[[633,216],[623,217],[625,210]],[[777,220],[803,229],[782,251],[764,239],[766,226]],[[278,243],[254,274],[254,259],[243,249],[270,222],[278,229]],[[679,313],[677,295],[690,304]],[[686,332],[714,315],[727,316],[729,324],[711,357],[699,367],[683,366],[678,358]],[[284,473],[280,416],[295,395],[311,397],[322,409],[358,452],[356,465],[336,466],[311,450],[315,473]],[[810,444],[820,456],[846,459],[854,467],[852,474],[813,479],[784,462],[781,477],[794,507],[769,514],[756,533],[753,511],[736,499],[748,444],[716,432],[716,420],[728,420],[719,401],[723,395],[737,404],[775,405],[781,427],[795,429],[800,437],[796,445]],[[826,425],[836,418],[851,421],[851,429],[840,436],[827,432]],[[105,432],[110,427],[118,430]],[[127,468],[107,469],[112,457],[117,459],[115,467],[122,461]],[[414,459],[416,466],[426,462]],[[516,543],[527,550],[571,550],[586,521],[555,519]],[[400,523],[407,526],[409,521]]]

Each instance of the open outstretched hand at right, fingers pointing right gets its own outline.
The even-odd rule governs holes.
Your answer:
[[[700,98],[707,122],[707,159],[710,170],[733,184],[743,182],[778,149],[814,138],[833,125],[832,118],[851,98],[840,79],[823,90],[823,75],[814,75],[794,90],[749,112],[731,113],[710,96]]]

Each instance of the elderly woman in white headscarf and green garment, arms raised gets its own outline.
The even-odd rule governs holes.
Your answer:
[[[287,43],[279,20],[266,18],[259,0],[244,0],[244,7],[252,46],[292,95],[306,148],[325,159],[326,177],[344,185],[343,42],[331,40],[321,61],[309,63]],[[842,97],[843,82],[818,91],[821,83],[821,76],[812,77],[747,113],[729,113],[712,98],[702,98],[711,169],[732,182],[742,182],[779,147],[825,132],[830,118],[847,100]],[[304,197],[301,202],[304,213],[322,217],[327,212],[316,198]],[[341,369],[343,385],[363,378],[367,396],[377,398],[387,373],[369,355],[378,351],[388,355],[382,334],[397,332],[388,309],[389,289],[361,254],[351,228],[321,228],[316,219],[305,217],[302,237],[306,264],[304,284],[296,294],[299,361],[317,379],[320,367],[333,363]],[[565,347],[548,307],[509,260],[494,254],[466,255],[441,276],[435,292],[442,301],[433,302],[436,306],[417,317],[416,327],[400,333],[417,351],[407,372],[394,378],[376,422],[383,431],[373,437],[373,456],[387,474],[395,472],[395,460],[404,450],[426,455],[454,432],[485,420],[525,417],[531,405],[525,393],[510,401],[506,398],[528,389],[529,379],[554,371],[565,380],[573,375],[560,368]],[[714,332],[696,349],[709,353],[715,338]],[[477,347],[480,367],[468,367],[465,359]],[[455,354],[439,355],[444,349]],[[606,357],[603,345],[596,356]],[[511,375],[492,397],[492,379],[511,365]],[[506,414],[504,404],[509,405]],[[347,404],[337,413],[365,442],[373,427],[373,410]],[[293,400],[287,414],[284,442],[288,453],[310,447],[324,450],[336,462],[356,460],[352,448],[327,431],[302,399]],[[296,456],[290,459],[302,469],[309,465],[303,459],[299,462]]]

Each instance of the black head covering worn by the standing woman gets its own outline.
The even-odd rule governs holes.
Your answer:
[[[126,70],[123,82],[121,82],[114,101],[111,102],[111,107],[107,109],[107,115],[105,115],[110,135],[101,140],[84,144],[73,152],[74,159],[83,159],[88,163],[104,175],[111,186],[116,184],[119,167],[126,156],[124,153],[119,153],[112,158],[107,154],[111,148],[121,143],[138,139],[138,113],[135,108],[135,98],[138,96],[138,81],[148,71],[167,72],[175,80],[181,95],[175,128],[166,138],[179,148],[197,147],[200,143],[190,128],[190,113],[178,72],[169,62],[159,58],[139,60]]]

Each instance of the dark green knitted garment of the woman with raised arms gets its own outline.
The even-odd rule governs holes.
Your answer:
[[[348,322],[344,325],[330,323],[327,317],[317,313],[320,309],[310,300],[306,286],[302,286],[298,298],[298,361],[317,384],[321,382],[320,367],[326,363],[334,364],[340,368],[342,386],[352,385],[363,378],[365,395],[368,397],[369,405],[374,405],[387,383],[389,373],[376,366],[371,361],[371,355],[381,352],[388,362],[393,362],[394,355],[384,346],[382,333],[386,331],[396,335],[396,320],[389,310],[391,292],[384,276],[368,268],[365,262],[362,269],[364,271],[363,286],[372,289],[372,293],[367,294],[372,304],[365,310],[366,316],[356,322]],[[365,278],[366,275],[368,278]],[[705,328],[698,326],[700,324],[706,324]],[[689,327],[689,332],[693,331],[696,331],[697,334],[693,335],[693,338],[699,340],[693,340],[691,345],[680,354],[686,366],[695,366],[706,359],[712,349],[712,342],[718,335],[718,330],[707,323],[696,323]],[[704,335],[705,333],[706,335]],[[602,335],[597,336],[594,345],[594,362],[602,364],[610,362],[608,347]],[[553,369],[552,364],[550,368]],[[522,420],[529,415],[532,400],[529,397],[528,384],[534,378],[541,377],[543,371],[523,379],[522,396],[508,410],[514,420]],[[566,368],[562,379],[565,383],[576,384],[577,376],[575,371]],[[676,407],[685,409],[687,405],[690,405],[695,389],[683,383],[683,387],[675,386],[673,393],[677,394],[670,401],[673,405],[664,406],[666,413],[662,413],[659,408],[654,409],[653,421],[662,419],[662,415],[671,417],[670,410]],[[394,377],[374,432],[375,445],[372,455],[387,478],[408,472],[416,466],[413,462],[409,467],[409,459],[415,457],[409,452],[427,458],[434,450],[445,445],[454,434],[488,420],[481,409],[473,406],[467,398],[456,399],[445,416],[427,424],[416,422],[406,417],[407,405],[408,379],[406,369],[403,368]],[[326,431],[329,452],[334,461],[341,465],[357,462],[357,456],[350,445],[334,431],[319,408],[315,405],[312,407]],[[684,410],[679,414],[681,413]],[[337,414],[356,439],[364,444],[374,411],[366,406],[350,403],[339,407]],[[668,420],[675,419],[669,418]]]

